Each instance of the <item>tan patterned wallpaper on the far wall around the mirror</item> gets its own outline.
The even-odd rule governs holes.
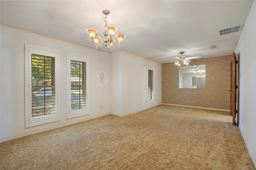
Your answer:
[[[230,61],[232,55],[192,60],[189,65],[206,65],[205,89],[179,89],[179,67],[162,64],[162,103],[230,109]]]

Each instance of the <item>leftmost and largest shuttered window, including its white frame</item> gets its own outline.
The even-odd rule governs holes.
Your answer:
[[[58,121],[58,51],[26,45],[26,127]]]

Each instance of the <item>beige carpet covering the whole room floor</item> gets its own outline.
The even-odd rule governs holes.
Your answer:
[[[159,105],[0,143],[1,170],[254,170],[228,112]]]

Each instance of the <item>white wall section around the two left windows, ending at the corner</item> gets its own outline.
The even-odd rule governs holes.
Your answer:
[[[96,71],[107,71],[111,79],[110,54],[96,49],[55,40],[1,25],[1,65],[0,65],[0,140],[8,140],[48,128],[67,125],[110,113],[110,81],[106,89],[96,87]],[[60,99],[60,121],[25,128],[25,44],[38,45],[60,51],[60,77],[58,89]],[[66,119],[66,53],[90,57],[90,115]],[[100,109],[102,105],[102,109]]]

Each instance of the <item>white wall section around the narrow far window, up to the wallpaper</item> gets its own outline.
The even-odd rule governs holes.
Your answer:
[[[162,65],[126,51],[112,53],[112,107],[116,115],[162,103]],[[146,105],[147,66],[154,67],[154,104]]]

